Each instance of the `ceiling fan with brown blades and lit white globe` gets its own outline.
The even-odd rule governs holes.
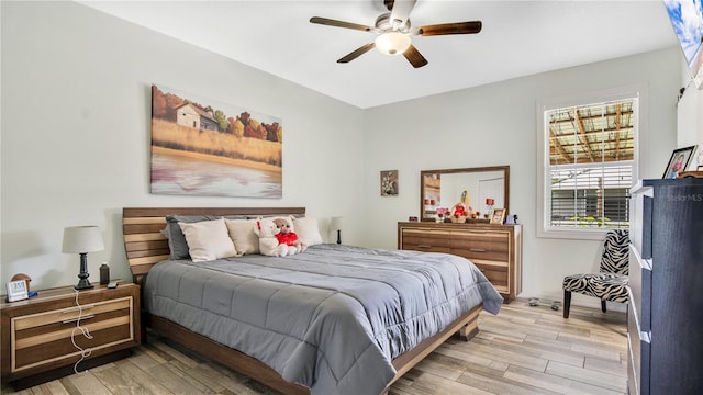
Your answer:
[[[390,12],[379,15],[376,19],[373,27],[322,16],[313,16],[310,19],[310,22],[378,34],[372,43],[365,44],[350,52],[348,55],[339,58],[337,63],[349,63],[372,48],[377,48],[386,55],[403,54],[405,59],[408,59],[414,68],[427,65],[427,59],[425,59],[411,43],[412,36],[476,34],[481,31],[481,21],[440,23],[412,27],[410,23],[410,12],[413,10],[413,7],[415,7],[415,2],[417,2],[417,0],[383,0],[383,5],[386,5]]]

